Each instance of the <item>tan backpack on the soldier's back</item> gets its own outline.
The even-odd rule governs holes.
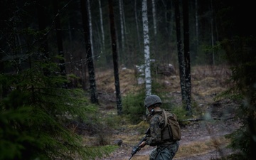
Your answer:
[[[178,124],[176,114],[166,112],[166,110],[163,110],[163,117],[164,117],[164,127],[169,127],[169,130],[171,130],[171,139],[174,141],[181,140],[181,127]]]

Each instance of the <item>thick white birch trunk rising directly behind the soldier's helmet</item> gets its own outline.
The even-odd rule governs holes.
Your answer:
[[[146,96],[151,95],[151,71],[150,71],[150,52],[149,52],[149,21],[147,17],[147,0],[142,1],[142,23],[144,35],[144,58],[145,58],[145,82]]]

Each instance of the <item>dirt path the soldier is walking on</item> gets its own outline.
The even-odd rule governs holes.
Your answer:
[[[233,119],[215,120],[213,122],[191,122],[191,124],[188,126],[182,127],[180,149],[174,157],[174,160],[206,160],[231,154],[232,151],[223,146],[225,142],[221,142],[220,137],[223,139],[225,134],[229,134],[237,128],[238,124],[236,124]],[[195,152],[190,151],[187,154],[181,153],[186,151],[186,147],[196,148],[197,145],[206,145],[207,147],[207,143],[210,141],[215,141],[217,143],[215,148],[209,148],[205,151],[197,151],[195,149]],[[149,159],[148,157],[151,149],[153,149],[153,147],[145,146],[143,149],[137,152],[137,154],[135,154],[131,160]],[[110,156],[98,160],[128,160],[131,156],[131,151],[132,146],[122,144],[122,146],[120,146],[119,149],[117,149],[117,151],[112,153]]]

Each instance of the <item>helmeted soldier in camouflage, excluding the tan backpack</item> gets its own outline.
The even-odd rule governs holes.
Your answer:
[[[161,103],[161,99],[157,95],[149,95],[144,100],[144,105],[151,115],[149,121],[150,135],[146,141],[139,144],[139,147],[156,146],[149,154],[149,160],[170,160],[178,151],[178,141],[171,139],[168,129],[164,128],[165,120],[161,114],[163,112]]]

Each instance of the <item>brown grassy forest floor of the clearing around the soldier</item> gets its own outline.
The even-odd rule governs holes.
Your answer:
[[[232,150],[226,147],[229,140],[225,139],[225,135],[239,127],[238,122],[235,122],[234,119],[234,112],[238,104],[230,100],[214,100],[218,93],[228,88],[226,80],[229,76],[230,72],[225,66],[214,68],[201,66],[191,69],[192,97],[193,102],[197,104],[197,107],[193,110],[197,114],[201,114],[201,117],[194,117],[186,124],[181,125],[180,147],[174,159],[218,159],[220,156],[233,153]],[[97,73],[96,79],[101,111],[103,113],[116,112],[113,72]],[[119,80],[122,96],[132,90],[137,90],[137,79],[134,70],[120,70]],[[181,105],[178,75],[168,77],[161,75],[158,82],[164,85],[164,92],[169,92],[170,97],[173,97],[171,99],[173,103]],[[139,125],[124,124],[124,126],[112,132],[114,134],[110,136],[110,144],[117,144],[120,140],[122,140],[122,143],[109,156],[97,160],[128,160],[132,156],[132,146],[137,145],[139,140],[144,137],[138,131]],[[132,160],[149,159],[149,153],[153,148],[152,146],[145,146],[132,157]]]

